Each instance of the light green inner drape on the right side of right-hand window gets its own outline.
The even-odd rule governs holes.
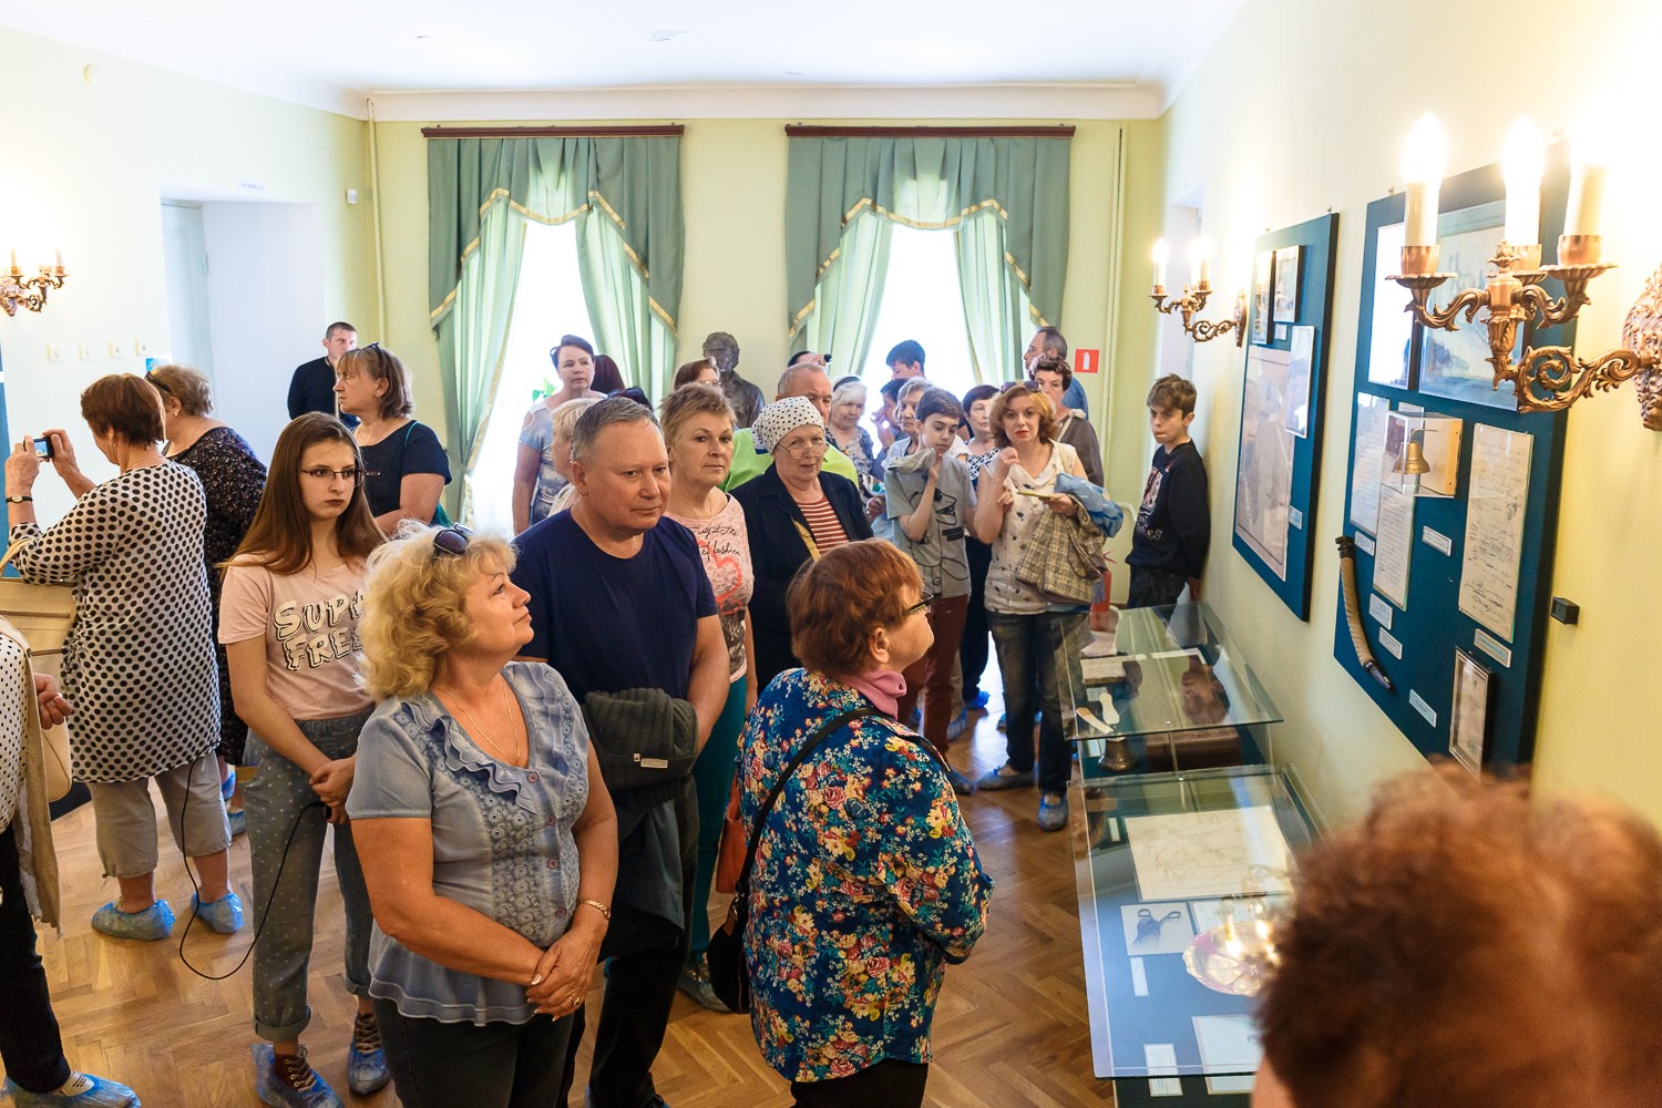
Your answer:
[[[1006,264],[1004,223],[996,211],[979,211],[952,233],[957,248],[957,286],[964,296],[969,360],[977,384],[1019,379],[1034,312],[1027,291]]]

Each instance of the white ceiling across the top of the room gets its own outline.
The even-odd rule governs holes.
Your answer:
[[[401,101],[417,111],[402,118],[500,118],[469,111],[467,95],[499,108],[514,103],[502,95],[602,90],[675,91],[666,106],[688,90],[770,90],[796,106],[803,86],[976,90],[989,115],[1010,91],[1012,116],[1030,115],[1034,88],[1137,93],[1153,115],[1242,3],[0,0],[0,27],[354,116],[369,96],[381,118],[402,116]]]

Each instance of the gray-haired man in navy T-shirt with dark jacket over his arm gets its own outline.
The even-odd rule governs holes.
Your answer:
[[[728,653],[715,595],[693,533],[663,515],[670,460],[652,410],[625,397],[600,400],[572,430],[570,510],[535,523],[515,542],[514,583],[530,593],[532,640],[522,661],[553,666],[583,704],[590,743],[603,764],[627,749],[650,751],[656,731],[696,728],[710,738],[728,694]],[[663,724],[632,716],[615,731],[618,704],[608,694],[652,689],[665,696]],[[688,719],[688,704],[696,718]],[[643,757],[643,762],[652,761]],[[691,762],[686,762],[691,769]],[[610,772],[610,771],[608,771]],[[691,776],[678,782],[620,787],[618,879],[600,957],[612,968],[595,1032],[587,1103],[593,1108],[661,1105],[652,1063],[663,1045],[681,967],[686,965],[698,854],[698,807]],[[666,799],[660,794],[670,792]],[[583,1032],[577,1010],[567,1060]]]

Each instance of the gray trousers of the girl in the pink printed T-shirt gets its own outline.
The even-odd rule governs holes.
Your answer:
[[[339,719],[296,719],[296,724],[324,756],[341,759],[357,753],[357,733],[369,713],[366,708]],[[253,782],[243,789],[248,849],[254,864],[249,922],[259,925],[264,917],[254,944],[254,1033],[283,1043],[299,1038],[311,1022],[306,975],[329,809],[312,792],[306,772],[266,746],[264,739],[249,733],[248,748],[259,764]],[[334,872],[346,902],[346,983],[354,995],[367,997],[369,929],[374,920],[351,824],[334,827]]]

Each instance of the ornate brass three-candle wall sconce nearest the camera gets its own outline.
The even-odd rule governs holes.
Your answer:
[[[1657,380],[1657,355],[1662,352],[1662,269],[1650,277],[1645,294],[1634,304],[1622,331],[1622,347],[1591,360],[1577,359],[1567,346],[1529,347],[1522,360],[1512,360],[1517,329],[1531,319],[1556,327],[1581,312],[1589,302],[1587,284],[1614,266],[1599,261],[1599,236],[1566,234],[1559,238],[1557,266],[1541,264],[1541,246],[1501,243],[1489,264],[1494,272],[1481,289],[1461,289],[1444,307],[1431,306],[1431,292],[1454,274],[1436,272],[1436,246],[1404,246],[1403,272],[1389,281],[1409,291],[1413,312],[1426,327],[1456,331],[1459,316],[1476,322],[1484,312],[1489,329],[1489,364],[1494,387],[1512,382],[1519,412],[1562,412],[1592,390],[1610,390],[1639,377],[1640,414],[1645,427],[1662,430],[1662,380]],[[1564,286],[1554,299],[1542,287],[1552,277]]]

